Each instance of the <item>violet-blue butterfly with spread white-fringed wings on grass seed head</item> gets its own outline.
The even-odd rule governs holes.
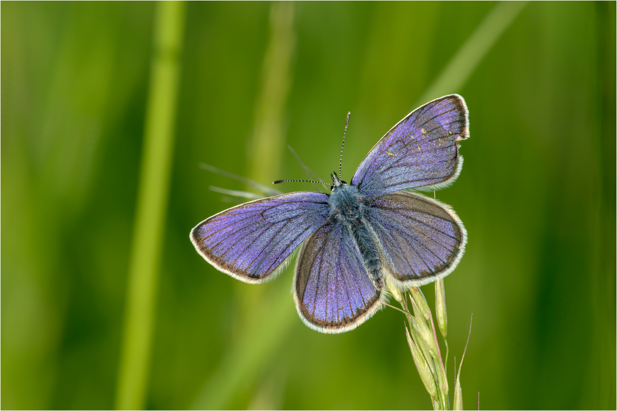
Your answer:
[[[273,279],[299,248],[292,294],[300,319],[323,333],[352,330],[383,307],[389,287],[433,282],[457,266],[463,223],[450,206],[413,190],[452,184],[463,165],[458,142],[468,137],[463,97],[433,100],[395,124],[350,183],[339,163],[329,195],[249,201],[197,224],[191,242],[205,261],[246,283]]]

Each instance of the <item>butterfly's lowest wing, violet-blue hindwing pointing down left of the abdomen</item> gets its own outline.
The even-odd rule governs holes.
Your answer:
[[[340,333],[362,324],[380,306],[362,257],[346,227],[329,220],[302,246],[294,299],[309,327]]]

